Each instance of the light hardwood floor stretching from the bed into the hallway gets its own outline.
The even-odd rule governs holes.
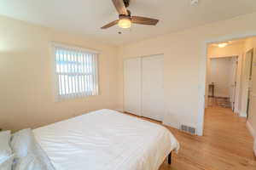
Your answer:
[[[246,118],[229,108],[208,107],[204,136],[182,133],[169,127],[181,144],[173,155],[172,166],[166,161],[160,170],[255,170],[253,138],[247,130]]]

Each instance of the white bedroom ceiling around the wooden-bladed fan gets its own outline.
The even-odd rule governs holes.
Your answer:
[[[157,26],[131,30],[100,27],[116,20],[111,0],[1,0],[0,14],[119,45],[256,11],[255,0],[131,0],[133,15],[159,19]],[[124,31],[119,35],[118,31]]]

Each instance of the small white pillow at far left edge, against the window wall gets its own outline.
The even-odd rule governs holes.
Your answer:
[[[7,157],[12,155],[12,150],[9,146],[10,131],[0,132],[0,161],[6,160]]]

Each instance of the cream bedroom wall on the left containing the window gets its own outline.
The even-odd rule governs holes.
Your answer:
[[[5,17],[0,23],[0,127],[38,127],[117,107],[117,48]],[[100,51],[100,95],[54,102],[51,41]]]

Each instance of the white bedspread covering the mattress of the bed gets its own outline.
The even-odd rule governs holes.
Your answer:
[[[33,132],[56,170],[157,170],[179,147],[166,127],[111,110]]]

